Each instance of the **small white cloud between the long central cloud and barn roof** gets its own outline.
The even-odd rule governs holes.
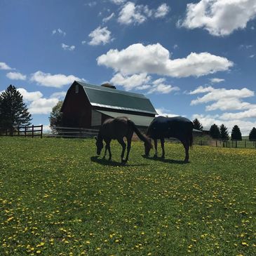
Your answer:
[[[146,73],[134,74],[133,76],[123,76],[118,73],[112,77],[110,83],[116,86],[123,86],[125,90],[132,90],[133,88],[141,89],[141,86],[144,86],[145,83],[149,83],[150,79],[151,77]]]

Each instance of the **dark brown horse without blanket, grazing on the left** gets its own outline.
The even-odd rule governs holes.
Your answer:
[[[102,126],[100,127],[99,133],[96,139],[96,147],[97,147],[97,154],[100,155],[100,152],[103,148],[103,140],[106,142],[105,147],[105,154],[103,158],[105,158],[107,154],[107,150],[109,151],[109,161],[112,159],[112,154],[110,151],[110,142],[111,140],[117,140],[122,146],[122,153],[121,153],[121,162],[126,163],[128,161],[129,153],[130,153],[130,143],[133,137],[133,132],[137,134],[137,137],[140,140],[144,141],[144,144],[147,145],[146,147],[151,149],[152,144],[150,140],[140,133],[140,130],[137,129],[135,123],[128,119],[126,116],[119,116],[115,119],[107,119]],[[124,151],[126,150],[126,143],[123,141],[123,137],[127,139],[127,154],[126,159],[123,158]]]

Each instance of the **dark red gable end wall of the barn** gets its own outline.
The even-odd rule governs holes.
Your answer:
[[[90,128],[91,106],[83,87],[73,83],[62,107],[63,126]]]

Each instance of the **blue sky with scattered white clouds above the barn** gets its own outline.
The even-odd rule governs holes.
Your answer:
[[[143,93],[159,114],[256,127],[256,0],[0,0],[0,91],[33,123],[74,80]]]

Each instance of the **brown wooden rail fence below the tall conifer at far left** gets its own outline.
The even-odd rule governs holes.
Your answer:
[[[4,136],[25,136],[25,137],[43,137],[43,125],[41,126],[17,126],[11,129],[1,131]]]

